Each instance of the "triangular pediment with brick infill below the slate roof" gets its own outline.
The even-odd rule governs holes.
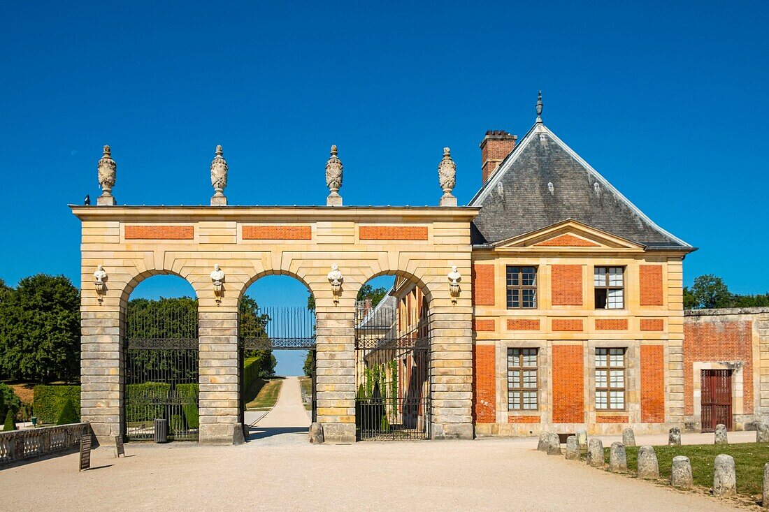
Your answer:
[[[643,245],[574,219],[499,241],[494,244],[494,248],[533,248],[541,251],[600,251],[601,249],[644,251]]]

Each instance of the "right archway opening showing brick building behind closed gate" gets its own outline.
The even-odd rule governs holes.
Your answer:
[[[408,274],[367,281],[355,306],[358,440],[430,437],[430,304]]]

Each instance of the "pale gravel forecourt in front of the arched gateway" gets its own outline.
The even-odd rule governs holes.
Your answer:
[[[77,454],[0,470],[0,489],[4,510],[744,510],[535,444],[126,444],[125,459],[95,450],[83,473]]]

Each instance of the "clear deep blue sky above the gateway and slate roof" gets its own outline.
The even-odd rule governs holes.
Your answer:
[[[767,2],[2,2],[0,277],[78,279],[66,204],[110,144],[127,204],[437,204],[481,185],[488,129],[544,122],[701,248],[687,284],[769,291]]]

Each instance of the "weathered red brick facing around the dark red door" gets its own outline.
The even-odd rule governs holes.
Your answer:
[[[754,414],[751,321],[684,322],[684,414],[694,414],[694,361],[742,361],[744,414]]]

